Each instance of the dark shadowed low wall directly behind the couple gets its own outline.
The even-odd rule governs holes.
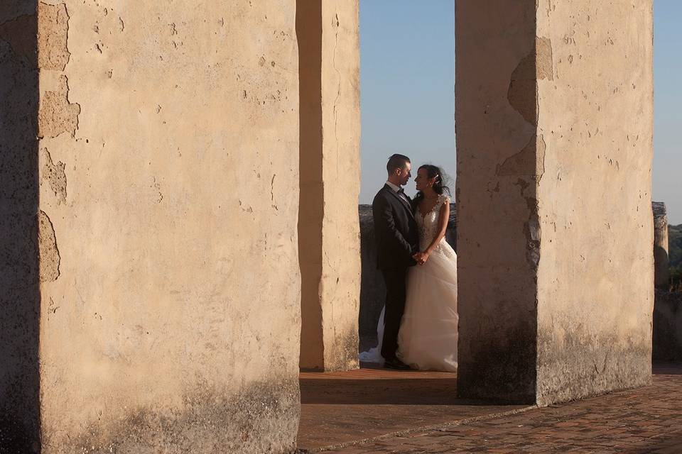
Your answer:
[[[358,206],[360,221],[360,253],[362,255],[362,284],[360,286],[359,335],[360,350],[377,345],[377,323],[386,299],[386,287],[377,270],[377,243],[374,238],[372,206]],[[457,209],[450,204],[450,221],[445,239],[457,250]]]

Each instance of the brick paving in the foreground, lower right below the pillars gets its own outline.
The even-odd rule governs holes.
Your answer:
[[[682,454],[682,365],[656,365],[653,384],[641,389],[442,423],[326,452]]]

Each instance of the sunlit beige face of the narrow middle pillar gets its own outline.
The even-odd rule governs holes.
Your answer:
[[[322,280],[325,365],[358,367],[360,299],[359,0],[323,1]],[[326,52],[325,52],[326,50]]]

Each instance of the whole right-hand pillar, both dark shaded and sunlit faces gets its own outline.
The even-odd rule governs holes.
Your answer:
[[[648,383],[651,1],[456,8],[460,394]]]

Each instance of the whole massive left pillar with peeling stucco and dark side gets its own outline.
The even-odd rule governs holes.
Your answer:
[[[0,6],[0,451],[293,452],[295,11]]]

